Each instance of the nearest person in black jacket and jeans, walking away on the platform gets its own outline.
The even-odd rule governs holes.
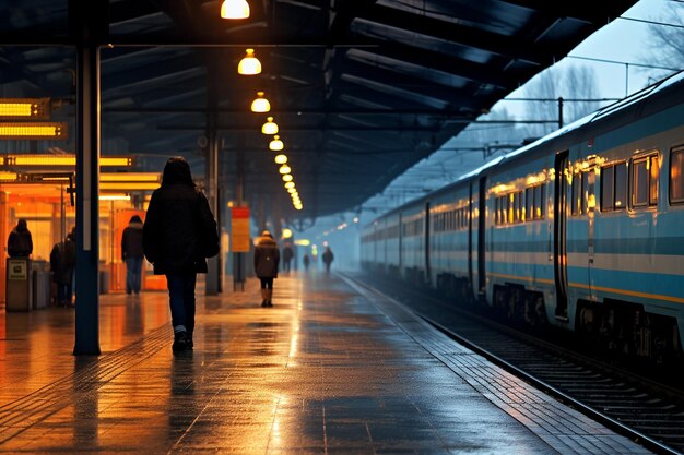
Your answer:
[[[142,227],[143,252],[155,275],[166,275],[174,327],[172,350],[193,348],[194,285],[207,273],[207,258],[219,254],[216,220],[207,196],[192,182],[182,157],[166,161]]]

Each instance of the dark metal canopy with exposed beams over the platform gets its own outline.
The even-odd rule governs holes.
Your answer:
[[[223,0],[4,2],[2,96],[49,97],[54,117],[72,118],[70,24],[89,21],[103,45],[104,156],[132,155],[137,171],[160,171],[182,155],[202,176],[215,131],[222,202],[241,181],[250,206],[311,219],[381,192],[636,2],[247,1],[241,20],[221,17]],[[248,48],[258,75],[237,73]],[[258,92],[270,112],[250,111]],[[302,211],[261,132],[267,117]],[[73,134],[37,148],[22,149],[73,152]]]

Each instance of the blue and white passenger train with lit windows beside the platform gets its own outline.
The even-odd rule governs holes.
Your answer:
[[[684,337],[684,73],[362,231],[375,273],[656,360]]]

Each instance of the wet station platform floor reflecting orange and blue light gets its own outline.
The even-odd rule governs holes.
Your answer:
[[[281,274],[272,308],[198,292],[173,355],[167,296],[0,312],[0,454],[645,454],[350,275]]]

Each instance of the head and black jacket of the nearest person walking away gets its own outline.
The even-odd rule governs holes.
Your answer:
[[[164,167],[162,187],[150,200],[142,241],[155,275],[207,273],[205,258],[219,253],[216,220],[194,187],[187,161],[169,159]]]

